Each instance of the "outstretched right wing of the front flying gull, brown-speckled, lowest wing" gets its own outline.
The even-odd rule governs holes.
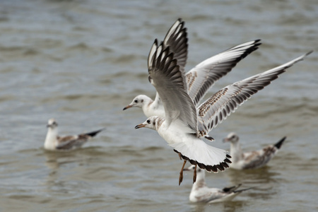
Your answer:
[[[310,53],[312,52],[308,52],[286,64],[238,81],[219,90],[199,107],[199,131],[201,131],[201,134],[207,134],[226,119],[231,112],[235,112],[239,105],[242,105],[243,102],[251,98],[258,90],[268,86],[271,81],[278,78],[278,75],[285,72],[286,69],[298,61],[302,61]]]

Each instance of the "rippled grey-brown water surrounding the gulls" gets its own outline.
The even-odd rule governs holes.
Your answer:
[[[211,132],[245,150],[287,136],[268,166],[207,175],[210,187],[256,187],[220,204],[191,204],[192,175],[146,118],[122,108],[155,95],[146,59],[177,18],[187,70],[248,40],[263,45],[211,89],[309,57]],[[0,211],[317,211],[317,1],[0,1]],[[61,134],[105,127],[84,148],[44,151],[47,119]]]

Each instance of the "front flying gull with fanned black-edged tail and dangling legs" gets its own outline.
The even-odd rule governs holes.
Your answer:
[[[207,145],[201,140],[201,136],[207,135],[239,105],[258,90],[268,86],[271,81],[278,78],[279,74],[285,72],[285,69],[301,61],[307,54],[226,86],[196,108],[185,89],[184,75],[179,70],[174,53],[170,52],[170,47],[165,47],[163,43],[158,45],[158,41],[155,40],[148,55],[149,81],[160,95],[165,117],[150,117],[146,122],[135,126],[135,129],[141,127],[155,129],[184,159],[179,173],[179,184],[182,182],[182,173],[187,160],[208,172],[223,171],[230,163],[230,155],[224,150]],[[195,181],[196,169],[194,169]]]

